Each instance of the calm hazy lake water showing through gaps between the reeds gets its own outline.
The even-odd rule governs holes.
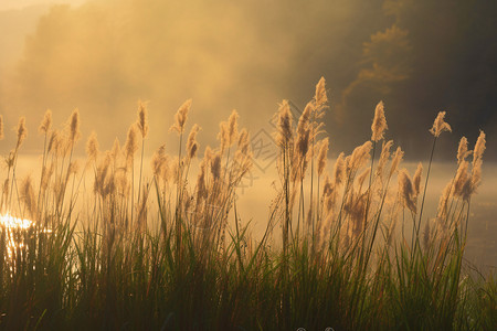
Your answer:
[[[263,161],[257,163],[257,160],[255,160],[255,162],[256,166],[243,179],[241,186],[237,189],[237,212],[242,223],[251,222],[253,237],[260,238],[266,228],[271,200],[276,196],[274,181],[278,177],[275,163],[265,164],[267,167],[264,169],[260,167]],[[33,179],[39,179],[40,163],[39,158],[21,156],[18,162],[18,178],[31,173]],[[147,159],[144,164],[148,169],[149,160]],[[423,162],[423,166],[425,167],[423,175],[425,175],[426,162]],[[332,164],[328,164],[328,169],[331,169],[331,167]],[[404,162],[401,167],[406,168],[412,174],[416,163]],[[197,168],[193,166],[192,169]],[[452,180],[455,171],[455,162],[434,163],[432,166],[423,220],[435,216],[442,190]],[[3,172],[4,170],[1,172],[1,179],[4,178]],[[145,175],[150,178],[150,172],[147,170]],[[191,175],[191,180],[194,182],[195,172],[192,171]],[[88,179],[87,182],[92,183],[92,180]],[[422,183],[424,183],[424,180]],[[87,186],[92,188],[92,185]],[[391,188],[396,189],[394,178]],[[275,232],[278,235],[277,228],[275,228]],[[484,163],[482,185],[472,199],[466,258],[484,271],[497,267],[497,164],[495,163]]]

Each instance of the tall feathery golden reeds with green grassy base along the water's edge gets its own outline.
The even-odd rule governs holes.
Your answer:
[[[473,150],[461,139],[457,171],[426,216],[445,113],[430,130],[430,161],[412,175],[384,138],[383,103],[371,138],[331,167],[321,78],[299,118],[286,100],[275,114],[276,194],[254,239],[235,199],[252,167],[250,134],[233,111],[219,146],[199,157],[191,106],[179,107],[178,146],[157,149],[150,177],[145,103],[123,146],[101,151],[93,132],[84,161],[73,154],[80,111],[62,129],[46,111],[39,179],[17,175],[28,134],[19,120],[2,169],[1,329],[495,330],[496,280],[463,260],[484,132]],[[3,138],[1,117],[0,129]]]

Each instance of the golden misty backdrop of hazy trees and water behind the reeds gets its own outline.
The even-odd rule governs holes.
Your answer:
[[[193,99],[189,126],[203,128],[202,149],[216,143],[218,122],[235,108],[254,142],[269,146],[241,194],[244,218],[264,226],[272,115],[284,98],[304,108],[325,76],[331,156],[370,138],[379,100],[387,137],[408,160],[429,157],[427,130],[440,110],[454,131],[441,137],[436,161],[455,160],[461,136],[473,146],[479,129],[487,132],[468,245],[496,265],[495,13],[494,0],[1,0],[0,152],[13,147],[10,129],[24,115],[22,152],[39,154],[36,128],[47,108],[62,124],[78,107],[83,139],[95,130],[106,149],[115,137],[124,141],[137,100],[149,100],[149,154],[163,142],[176,152],[168,129],[186,99]],[[435,204],[450,177],[436,169],[429,192]]]

